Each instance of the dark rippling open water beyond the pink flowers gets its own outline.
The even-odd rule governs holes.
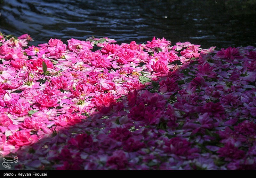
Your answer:
[[[256,45],[256,0],[0,0],[0,31],[138,43],[153,36],[203,47]]]

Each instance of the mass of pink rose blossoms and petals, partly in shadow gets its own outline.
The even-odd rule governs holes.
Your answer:
[[[256,169],[256,48],[0,34],[16,169]]]

